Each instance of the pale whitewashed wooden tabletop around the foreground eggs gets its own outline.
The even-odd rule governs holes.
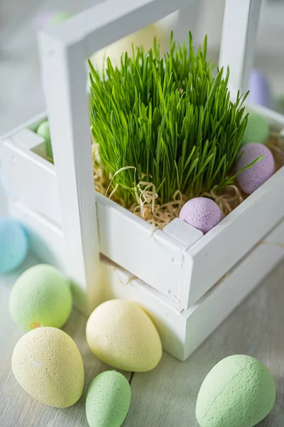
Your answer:
[[[30,256],[21,269],[0,277],[1,427],[87,427],[84,401],[94,376],[107,365],[90,352],[85,340],[87,319],[73,311],[63,328],[77,343],[84,360],[85,389],[80,401],[66,409],[50,408],[33,400],[18,385],[11,371],[13,347],[23,334],[9,315],[9,293],[18,274],[36,263]],[[253,272],[251,272],[253,274]],[[178,362],[168,354],[153,371],[126,374],[132,400],[124,427],[197,427],[195,401],[207,372],[229,354],[250,354],[271,370],[277,384],[277,400],[262,427],[284,426],[284,264],[187,360]],[[222,301],[220,301],[222,304]]]

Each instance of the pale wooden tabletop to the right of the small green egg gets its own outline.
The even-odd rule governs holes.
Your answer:
[[[278,396],[273,411],[258,427],[283,427],[283,277],[284,264],[187,362],[164,354],[156,369],[134,374],[133,400],[124,427],[197,427],[195,401],[202,381],[214,364],[230,354],[250,354],[270,369]]]

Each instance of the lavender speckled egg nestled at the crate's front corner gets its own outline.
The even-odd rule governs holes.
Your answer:
[[[207,233],[223,219],[222,211],[217,204],[206,197],[196,197],[186,202],[180,211],[180,219]]]

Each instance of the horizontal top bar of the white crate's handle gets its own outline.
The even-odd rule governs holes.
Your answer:
[[[197,0],[107,0],[45,29],[64,46],[82,43],[86,58]]]

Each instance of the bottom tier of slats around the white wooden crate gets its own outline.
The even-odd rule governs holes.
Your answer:
[[[45,262],[55,263],[66,271],[65,246],[60,229],[18,201],[13,201],[11,211],[28,228],[33,251]],[[41,241],[45,242],[44,246]],[[50,253],[53,258],[50,258]],[[116,297],[138,302],[158,327],[164,349],[185,360],[283,258],[284,221],[188,310],[182,310],[178,304],[104,258],[103,281],[97,289],[96,299],[103,301]],[[81,295],[75,295],[75,305],[81,309]]]

